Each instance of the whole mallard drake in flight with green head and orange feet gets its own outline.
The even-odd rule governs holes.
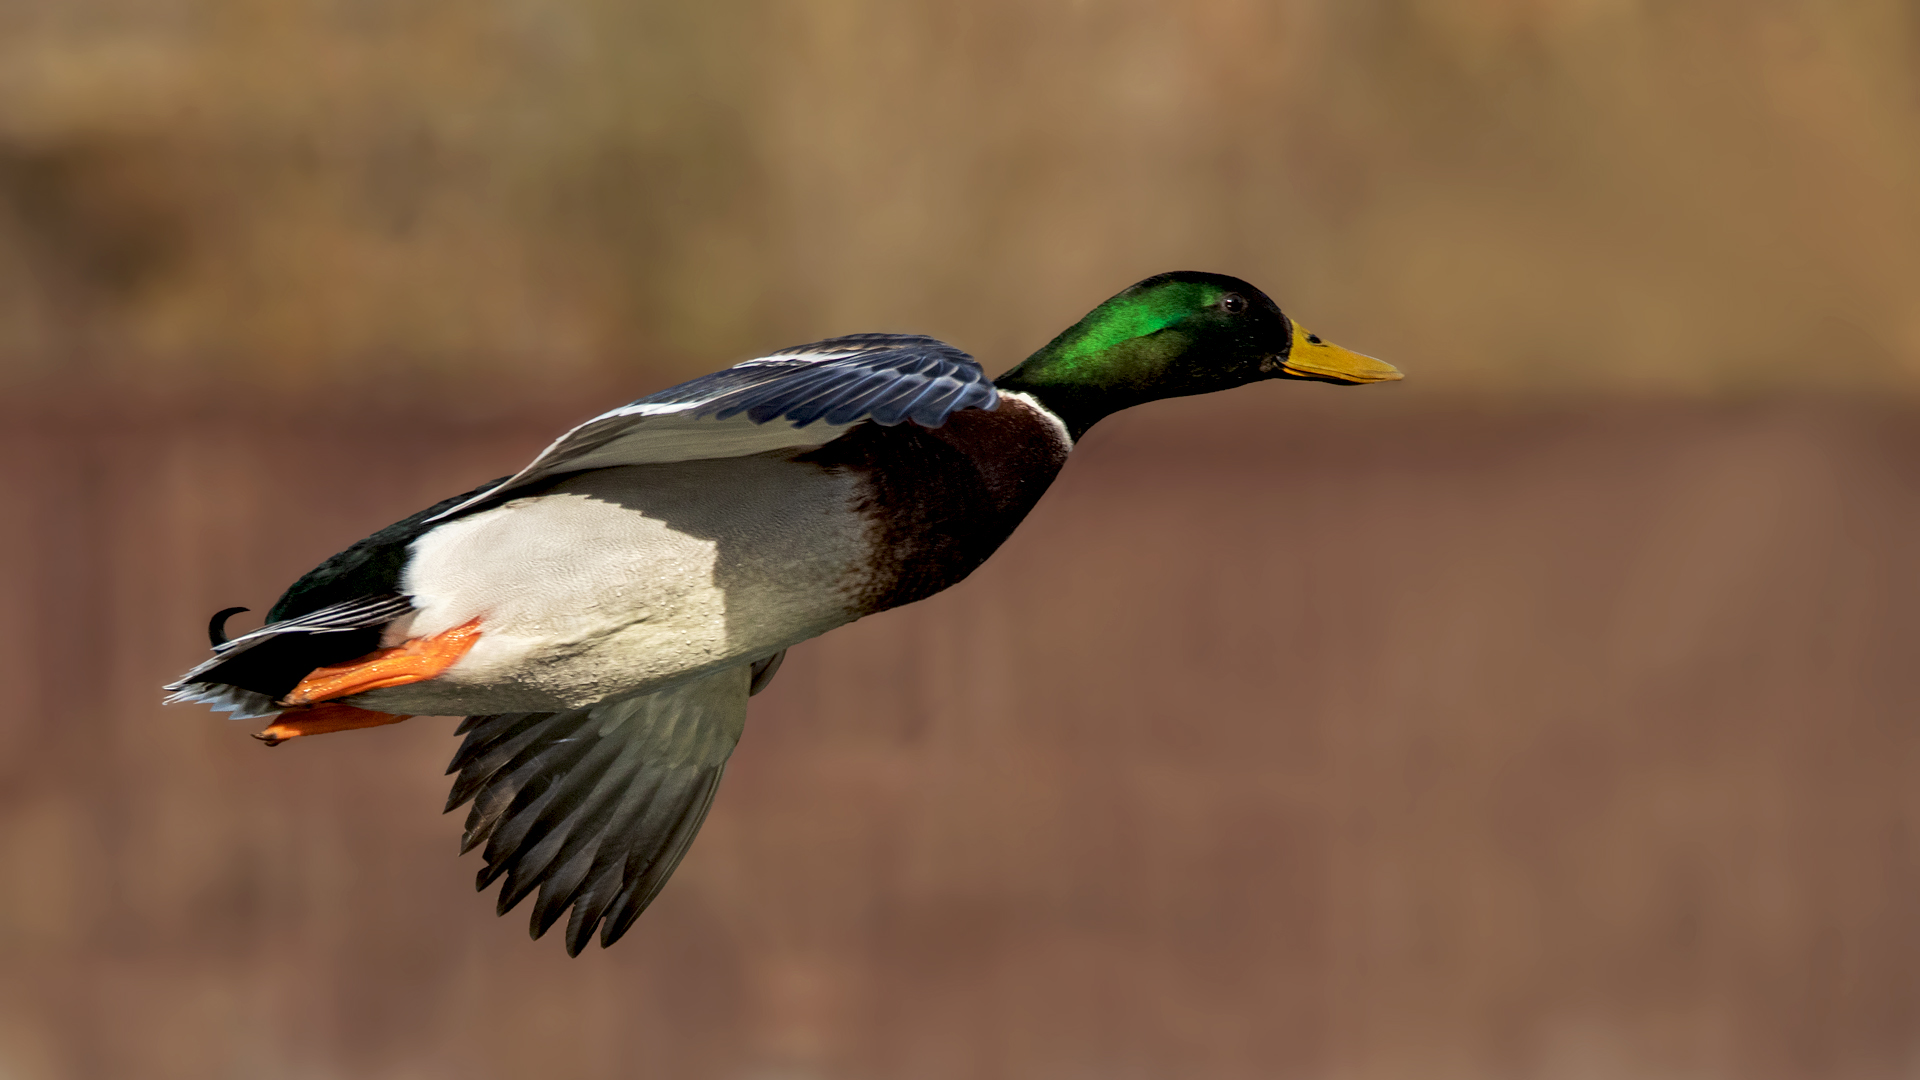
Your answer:
[[[1150,277],[989,380],[939,340],[854,334],[749,359],[568,430],[294,582],[167,686],[269,746],[467,715],[447,809],[505,915],[618,940],[707,817],[785,650],[968,577],[1102,417],[1261,379],[1400,373],[1252,284]]]

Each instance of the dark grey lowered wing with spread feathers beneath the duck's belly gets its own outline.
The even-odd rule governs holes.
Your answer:
[[[626,934],[693,844],[747,719],[751,665],[564,713],[468,717],[447,809],[472,799],[461,851],[499,913],[536,888],[532,934],[568,907],[566,953]]]

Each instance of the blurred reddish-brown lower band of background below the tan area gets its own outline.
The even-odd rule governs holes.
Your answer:
[[[973,580],[793,650],[680,874],[578,961],[472,894],[449,721],[269,753],[156,703],[205,613],[561,417],[324,419],[4,417],[10,1076],[1920,1051],[1910,413],[1267,386],[1110,421]]]

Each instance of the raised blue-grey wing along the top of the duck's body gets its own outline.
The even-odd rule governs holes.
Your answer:
[[[935,338],[828,338],[735,363],[601,413],[553,440],[497,488],[428,521],[559,473],[822,446],[860,421],[941,427],[956,409],[991,409],[998,402],[979,361]],[[776,419],[787,423],[772,423]]]

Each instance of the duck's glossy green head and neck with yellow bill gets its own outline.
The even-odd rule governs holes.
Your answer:
[[[995,386],[1033,394],[1079,438],[1142,402],[1261,379],[1384,382],[1400,373],[1319,340],[1236,277],[1175,271],[1094,307]]]

